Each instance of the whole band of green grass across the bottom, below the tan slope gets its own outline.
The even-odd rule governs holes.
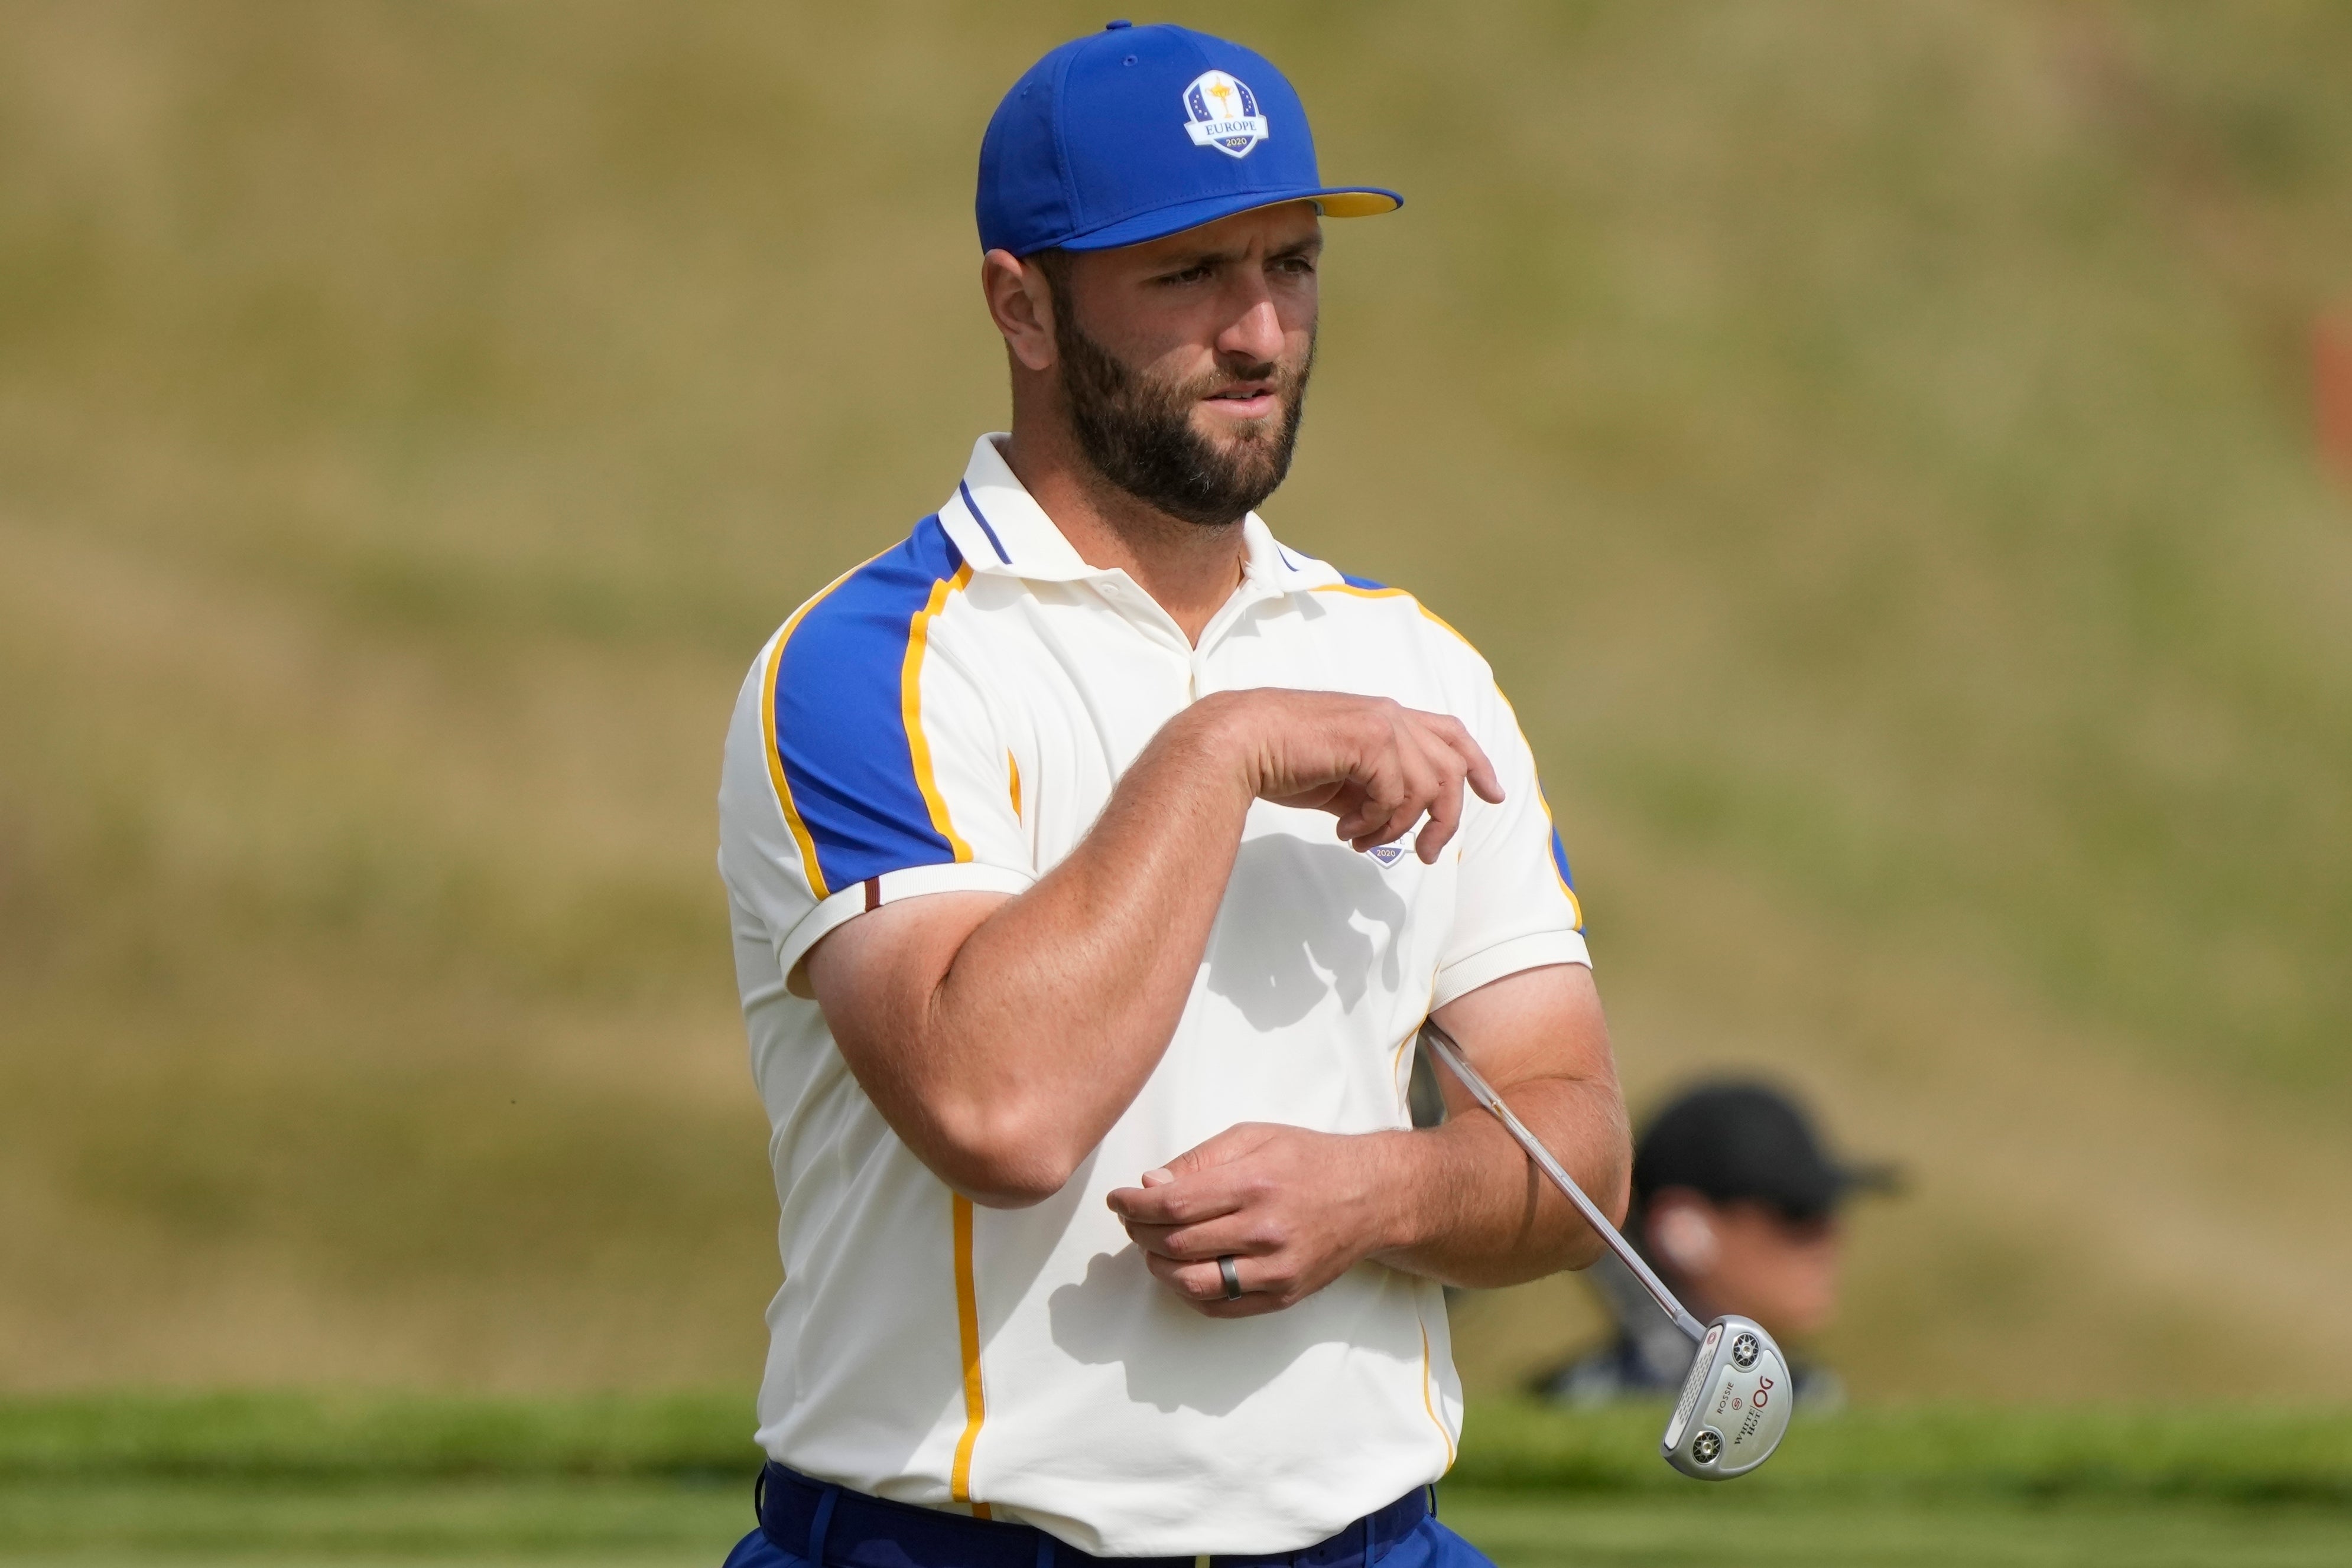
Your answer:
[[[748,1528],[741,1401],[118,1396],[0,1406],[0,1559],[706,1563]],[[1442,1516],[1503,1568],[2340,1561],[2343,1410],[1799,1420],[1700,1486],[1656,1410],[1472,1410]]]

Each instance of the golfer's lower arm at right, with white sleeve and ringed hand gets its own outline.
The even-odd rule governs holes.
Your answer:
[[[1566,858],[1510,705],[1494,691],[1491,708],[1463,717],[1505,776],[1505,799],[1463,823],[1435,1018],[1618,1218],[1632,1168],[1625,1100]],[[1458,1286],[1592,1262],[1599,1237],[1451,1074],[1439,1081],[1444,1126],[1343,1135],[1242,1124],[1112,1192],[1110,1208],[1152,1274],[1209,1316],[1277,1312],[1364,1258]],[[1223,1255],[1240,1300],[1225,1300]]]

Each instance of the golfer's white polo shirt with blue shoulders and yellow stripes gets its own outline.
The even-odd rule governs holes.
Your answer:
[[[1237,1121],[1409,1126],[1430,1009],[1588,961],[1566,858],[1494,675],[1411,595],[1251,515],[1244,581],[1192,646],[1134,578],[1077,557],[997,440],[906,543],[783,623],[727,736],[720,875],[783,1206],[760,1443],[1096,1554],[1296,1549],[1454,1462],[1444,1293],[1362,1262],[1289,1312],[1211,1321],[1103,1197]],[[898,898],[1028,889],[1169,717],[1251,686],[1449,712],[1508,797],[1468,797],[1437,865],[1256,802],[1143,1093],[1056,1197],[976,1208],[858,1088],[802,957]]]

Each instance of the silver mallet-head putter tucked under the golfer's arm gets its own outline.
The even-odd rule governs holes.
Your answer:
[[[1642,1260],[1642,1253],[1632,1251],[1625,1237],[1618,1234],[1609,1215],[1585,1197],[1576,1178],[1552,1159],[1543,1140],[1510,1114],[1503,1095],[1470,1065],[1470,1058],[1454,1044],[1454,1037],[1437,1020],[1425,1020],[1421,1037],[1430,1044],[1430,1053],[1446,1065],[1446,1072],[1461,1079],[1470,1098],[1484,1105],[1519,1140],[1519,1147],[1536,1161],[1536,1168],[1552,1178],[1552,1185],[1576,1204],[1576,1213],[1585,1215],[1585,1225],[1609,1244],[1618,1262],[1632,1269],[1642,1288],[1675,1319],[1675,1328],[1691,1335],[1691,1342],[1698,1347],[1691,1356],[1691,1375],[1682,1382],[1682,1399],[1675,1403],[1675,1415],[1665,1422],[1665,1439],[1658,1441],[1658,1455],[1682,1474],[1700,1481],[1745,1476],[1769,1460],[1771,1450],[1780,1446],[1780,1434],[1788,1432],[1795,1389],[1790,1387],[1788,1356],[1764,1333],[1764,1326],[1733,1314],[1719,1316],[1712,1324],[1700,1324],[1691,1316],[1675,1300],[1675,1293],[1665,1288],[1656,1269]]]

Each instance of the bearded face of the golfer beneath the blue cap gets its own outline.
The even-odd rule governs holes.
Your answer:
[[[1162,512],[1223,527],[1282,484],[1315,364],[1312,205],[1070,256],[1056,374],[1087,461]]]

